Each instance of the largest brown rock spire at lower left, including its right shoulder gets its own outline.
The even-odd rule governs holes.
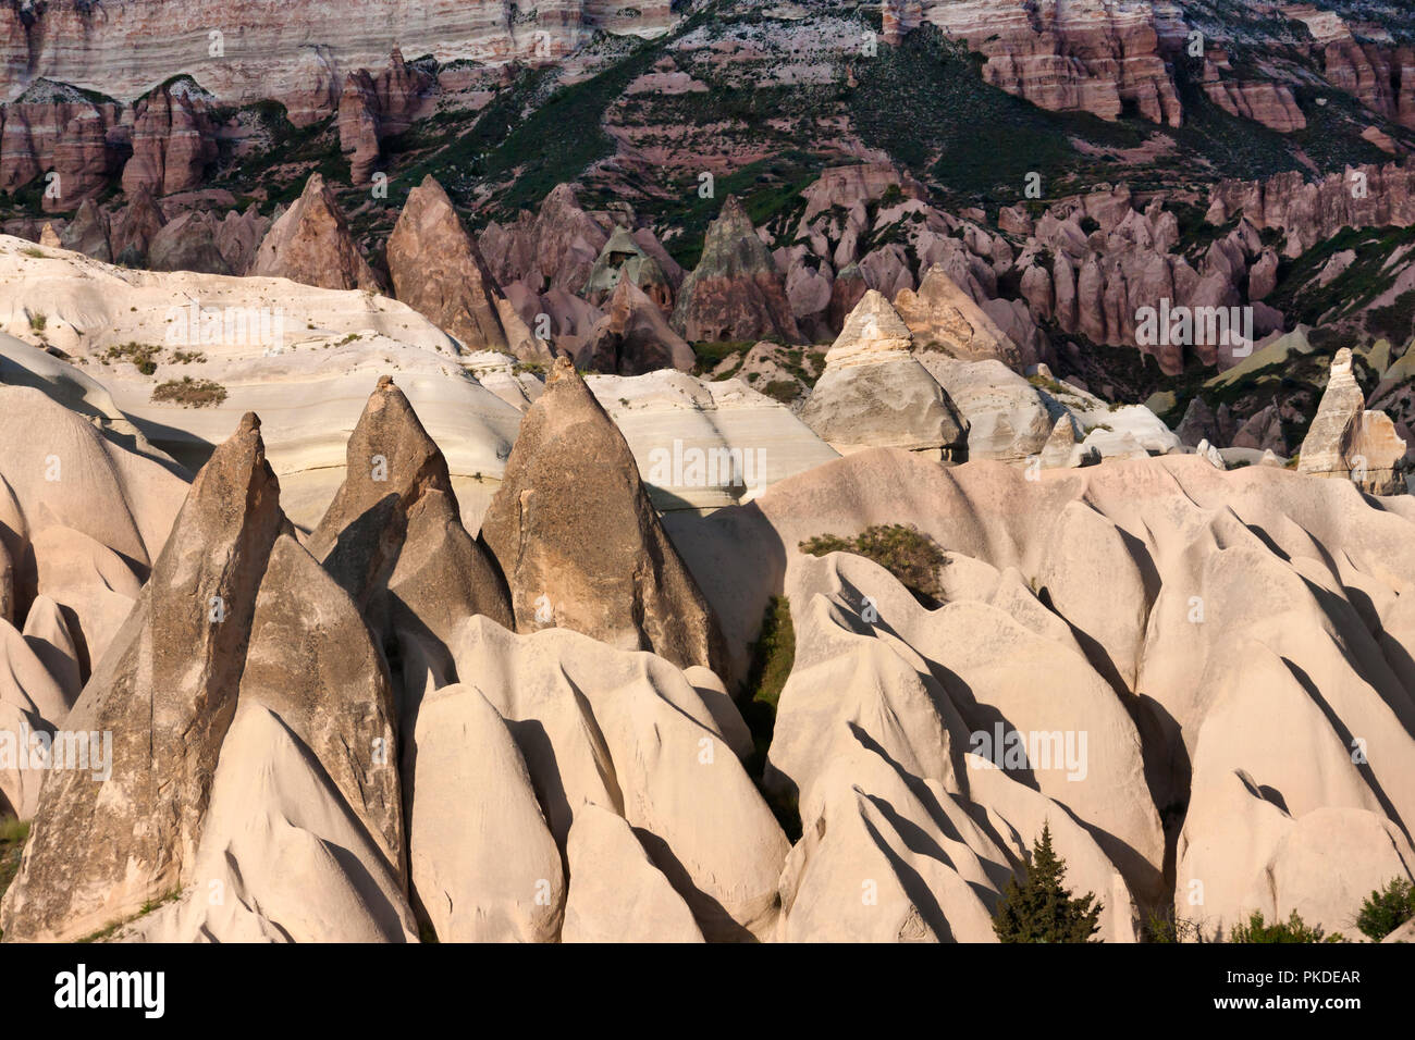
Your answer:
[[[238,707],[275,719],[303,750],[293,754],[300,768],[317,763],[340,812],[378,850],[379,869],[406,877],[398,773],[376,754],[395,736],[386,669],[352,601],[286,521],[259,430],[248,413],[197,475],[133,613],[67,720],[75,732],[112,733],[112,758],[106,775],[64,770],[41,790],[0,906],[7,937],[78,938],[177,889],[187,890],[185,906],[204,906],[205,894],[192,893],[207,890],[198,863],[216,855],[204,832]],[[279,774],[272,782],[284,787]],[[299,829],[297,815],[279,815],[283,832]],[[78,832],[85,842],[72,840]],[[253,879],[270,866],[270,849],[225,862],[236,880]],[[310,866],[314,887],[366,877],[366,865],[351,880],[327,853],[307,853],[286,866]],[[260,914],[259,891],[242,903]],[[317,935],[341,934],[337,921],[325,924]],[[183,937],[197,934],[205,931]]]

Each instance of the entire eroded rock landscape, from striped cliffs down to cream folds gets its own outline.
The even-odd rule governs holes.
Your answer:
[[[6,940],[1415,877],[1392,0],[59,0],[0,99]]]

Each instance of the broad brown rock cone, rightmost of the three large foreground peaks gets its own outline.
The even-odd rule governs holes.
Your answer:
[[[481,525],[516,628],[573,628],[724,679],[717,620],[683,566],[624,434],[566,358],[521,422]]]

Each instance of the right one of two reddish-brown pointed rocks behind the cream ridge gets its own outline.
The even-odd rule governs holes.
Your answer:
[[[467,349],[549,361],[497,286],[477,243],[432,174],[408,192],[388,239],[388,272],[398,299]],[[508,328],[509,323],[509,328]]]

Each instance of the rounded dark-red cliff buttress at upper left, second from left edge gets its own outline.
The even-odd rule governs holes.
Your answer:
[[[216,158],[208,105],[190,89],[164,86],[133,110],[133,156],[123,166],[123,191],[171,195],[200,188]]]

